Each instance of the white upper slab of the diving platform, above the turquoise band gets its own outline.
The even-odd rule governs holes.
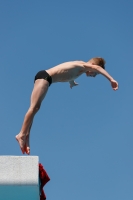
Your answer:
[[[38,156],[0,156],[0,185],[39,185]]]

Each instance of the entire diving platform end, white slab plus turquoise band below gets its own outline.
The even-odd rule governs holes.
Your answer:
[[[0,200],[39,200],[38,156],[0,156]]]

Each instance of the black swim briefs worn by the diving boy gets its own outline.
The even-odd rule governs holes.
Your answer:
[[[34,82],[37,80],[37,79],[44,79],[44,80],[47,80],[49,82],[49,86],[51,85],[52,83],[52,77],[45,71],[45,70],[41,70],[39,71],[36,76],[35,76],[35,79],[34,79]]]

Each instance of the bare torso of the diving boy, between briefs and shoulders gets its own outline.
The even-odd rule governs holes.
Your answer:
[[[86,69],[83,66],[84,63],[85,62],[83,61],[65,62],[46,71],[52,77],[52,83],[68,82],[75,80],[81,74],[86,72]]]

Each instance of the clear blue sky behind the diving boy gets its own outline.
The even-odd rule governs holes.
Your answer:
[[[30,136],[47,200],[133,199],[132,19],[131,0],[0,0],[1,155],[22,155],[15,135],[38,71],[100,56],[119,83],[82,75],[73,89],[50,86]]]

